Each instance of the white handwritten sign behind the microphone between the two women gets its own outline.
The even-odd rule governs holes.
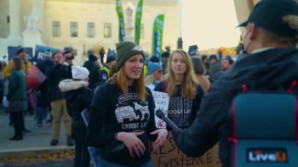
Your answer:
[[[167,116],[167,112],[169,109],[169,96],[168,93],[164,93],[164,92],[157,92],[157,91],[152,91],[152,95],[153,95],[153,99],[155,102],[155,112],[158,109],[161,109],[162,111],[164,111],[166,113]],[[155,115],[155,125],[157,128],[166,128],[166,122],[162,119],[159,119],[156,114]]]

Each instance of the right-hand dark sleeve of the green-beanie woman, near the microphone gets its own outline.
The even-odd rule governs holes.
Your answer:
[[[149,140],[151,141],[155,141],[157,138],[157,135],[150,135],[151,132],[155,131],[156,125],[155,125],[155,103],[154,103],[154,99],[152,96],[152,92],[150,91],[149,88],[147,88],[146,90],[149,93],[149,113],[150,113],[150,118],[149,118],[149,125],[147,128],[147,135]]]

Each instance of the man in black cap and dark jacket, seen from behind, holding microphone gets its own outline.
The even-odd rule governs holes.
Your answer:
[[[252,161],[248,161],[244,157],[247,150],[238,149],[241,147],[238,144],[245,142],[240,139],[243,136],[245,136],[244,139],[253,138],[255,141],[260,141],[270,138],[270,134],[274,134],[274,139],[285,139],[285,135],[278,131],[275,132],[274,127],[272,129],[268,128],[268,131],[273,130],[273,133],[254,128],[258,127],[254,122],[260,120],[260,115],[267,115],[266,117],[269,120],[275,119],[272,115],[267,114],[270,112],[281,117],[283,116],[283,114],[279,114],[281,112],[291,113],[292,110],[287,107],[268,111],[273,106],[289,105],[283,102],[284,98],[281,97],[283,93],[285,93],[285,96],[288,96],[290,93],[293,96],[293,104],[291,105],[295,105],[294,99],[298,95],[298,3],[296,0],[260,0],[252,9],[248,20],[239,26],[246,29],[246,34],[243,37],[244,55],[231,68],[226,70],[218,81],[211,84],[210,89],[201,101],[199,112],[193,125],[183,131],[173,130],[173,138],[177,147],[185,154],[193,157],[203,155],[219,142],[220,159],[223,167],[271,166],[265,165],[265,159],[255,163],[255,165],[252,164]],[[245,94],[246,88],[248,92],[258,94],[257,96],[268,103],[260,102],[258,101],[259,99],[252,99],[256,96],[251,96],[251,100],[248,98],[241,98],[241,100],[237,98]],[[268,94],[271,95],[268,96]],[[243,101],[243,103],[239,103],[239,101]],[[274,103],[278,105],[273,105]],[[231,120],[233,120],[230,114],[233,104],[235,106],[243,106],[239,109],[243,109],[242,112],[244,113],[240,114],[237,112],[238,109],[236,109],[236,115],[251,115],[251,117],[245,119],[247,119],[247,122],[251,122],[251,125],[254,125],[254,127],[244,123],[241,125],[245,125],[242,130],[237,128],[237,134],[231,135],[233,129],[229,125],[232,125]],[[246,108],[249,105],[253,106]],[[251,114],[251,108],[255,107],[262,109],[259,110],[258,114]],[[236,122],[241,122],[241,120],[237,119]],[[285,118],[278,121],[284,125],[291,125],[292,122],[294,124],[294,120],[293,117],[290,117],[289,119]],[[297,116],[295,121],[297,122]],[[294,127],[297,127],[297,124],[296,126],[293,125]],[[243,129],[252,129],[253,131]],[[253,135],[255,132],[262,133],[262,135],[258,136],[258,138]],[[236,132],[234,131],[234,133]],[[241,134],[241,137],[238,134]],[[293,142],[294,146],[297,139],[294,137],[294,130],[292,136],[289,142]],[[233,140],[234,144],[232,144],[235,149],[239,150],[237,155],[240,156],[242,154],[243,156],[242,158],[237,158],[237,164],[234,164],[236,159],[232,158],[236,152],[231,154],[230,146],[232,141],[227,140],[230,137],[240,139],[240,141],[237,139]],[[238,144],[236,144],[237,142]],[[268,147],[269,145],[261,143],[259,146]],[[278,147],[275,143],[272,146]],[[291,155],[297,155],[297,147],[295,148],[295,153],[293,152]],[[287,165],[297,166],[295,162],[292,165],[290,163]],[[276,166],[278,165],[276,164]]]

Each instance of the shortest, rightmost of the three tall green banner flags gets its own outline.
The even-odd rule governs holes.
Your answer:
[[[160,58],[162,52],[162,34],[165,15],[158,15],[153,24],[152,33],[152,56]]]

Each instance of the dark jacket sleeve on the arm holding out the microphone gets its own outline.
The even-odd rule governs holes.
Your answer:
[[[174,141],[183,153],[191,157],[203,155],[219,141],[218,131],[224,125],[231,107],[232,95],[215,82],[203,97],[194,123],[183,131],[173,130]],[[223,86],[224,87],[224,86]]]

